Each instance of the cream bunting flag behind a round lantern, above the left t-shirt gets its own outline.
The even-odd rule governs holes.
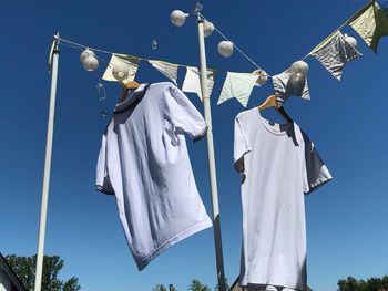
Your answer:
[[[105,81],[113,81],[118,82],[118,80],[113,76],[112,70],[114,65],[125,65],[129,69],[129,74],[123,82],[133,81],[136,76],[136,72],[139,69],[139,63],[141,59],[132,55],[125,55],[125,54],[112,54],[111,61],[109,62],[109,65],[106,66],[106,70],[102,76]]]

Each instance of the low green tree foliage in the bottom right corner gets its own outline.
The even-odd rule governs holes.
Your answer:
[[[388,290],[388,276],[371,277],[366,281],[349,276],[346,280],[338,280],[337,285],[338,291],[386,291]]]

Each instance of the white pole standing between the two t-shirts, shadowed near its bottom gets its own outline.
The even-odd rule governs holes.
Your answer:
[[[213,127],[212,127],[212,112],[211,100],[207,92],[207,67],[206,67],[206,53],[205,53],[205,37],[204,37],[204,20],[198,14],[198,38],[200,38],[200,61],[201,61],[201,92],[204,103],[205,121],[207,125],[207,159],[208,172],[211,176],[211,193],[212,193],[212,206],[213,206],[213,229],[214,229],[214,243],[215,243],[215,257],[217,263],[217,280],[218,290],[225,291],[225,272],[224,272],[224,258],[223,247],[221,239],[221,222],[219,222],[219,208],[218,208],[218,194],[217,194],[217,177],[215,173],[215,158],[214,158],[214,145],[213,145]]]

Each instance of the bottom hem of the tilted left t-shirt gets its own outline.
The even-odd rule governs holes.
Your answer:
[[[167,248],[170,248],[171,246],[180,242],[181,240],[184,240],[185,238],[201,231],[204,230],[206,228],[212,227],[212,221],[210,220],[210,218],[207,218],[206,220],[184,230],[181,231],[180,233],[177,233],[176,236],[172,237],[171,239],[169,239],[167,241],[165,241],[164,243],[162,243],[162,246],[160,246],[159,248],[156,248],[155,250],[153,250],[150,254],[147,254],[144,259],[142,259],[139,263],[137,263],[137,268],[139,270],[143,270],[153,259],[155,259],[159,254],[161,254],[164,250],[166,250]]]

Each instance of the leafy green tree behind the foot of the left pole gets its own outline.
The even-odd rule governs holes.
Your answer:
[[[37,256],[18,257],[10,254],[6,257],[9,266],[19,277],[27,290],[32,291],[35,280]],[[79,291],[81,285],[79,279],[70,278],[62,281],[58,278],[59,272],[63,268],[64,261],[59,256],[44,256],[42,272],[42,291]]]

